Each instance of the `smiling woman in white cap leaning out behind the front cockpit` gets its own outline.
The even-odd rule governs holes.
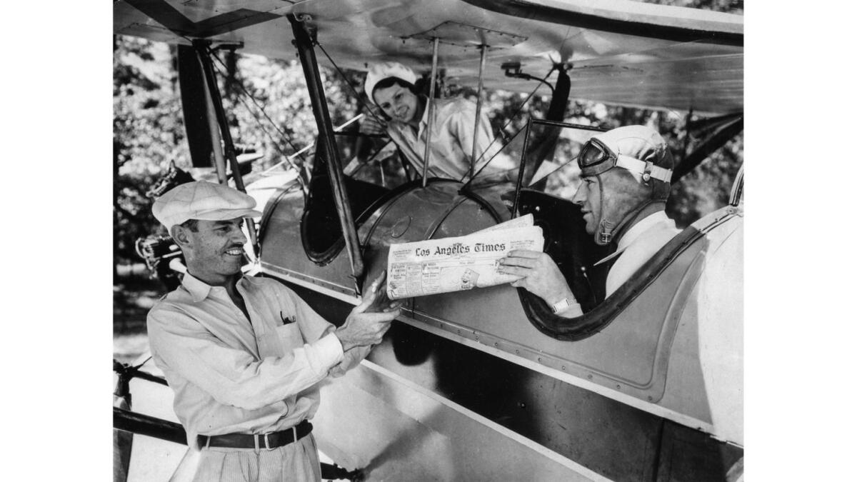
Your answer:
[[[381,108],[381,115],[364,117],[360,130],[364,134],[388,136],[399,147],[411,166],[423,172],[423,156],[428,138],[428,97],[419,93],[417,75],[401,63],[376,63],[366,75],[365,90],[369,99]],[[434,99],[431,141],[428,154],[428,176],[463,180],[470,172],[470,158],[476,127],[476,104],[461,97]],[[479,116],[476,137],[476,170],[494,157],[500,143],[488,116]],[[489,150],[490,149],[490,150]],[[503,156],[493,160],[480,178],[506,172],[514,167]],[[475,171],[476,172],[476,171]]]

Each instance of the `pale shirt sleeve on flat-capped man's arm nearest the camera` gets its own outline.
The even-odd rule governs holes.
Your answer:
[[[169,371],[194,383],[225,405],[255,410],[321,382],[342,360],[333,334],[304,344],[283,357],[256,360],[225,345],[177,307],[156,306],[147,320],[153,355]],[[165,370],[167,371],[167,370]]]

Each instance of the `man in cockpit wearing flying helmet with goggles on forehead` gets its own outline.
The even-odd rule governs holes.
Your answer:
[[[572,202],[581,207],[586,232],[597,244],[614,244],[607,296],[655,256],[680,230],[664,212],[673,175],[673,156],[655,130],[629,125],[593,136],[580,149],[583,183]],[[512,286],[542,298],[559,316],[583,314],[560,268],[546,253],[513,250],[500,260],[500,273],[523,276]]]

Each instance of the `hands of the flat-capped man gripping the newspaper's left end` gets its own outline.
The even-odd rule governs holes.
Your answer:
[[[363,298],[363,303],[351,310],[351,313],[345,319],[345,323],[336,329],[336,337],[342,343],[342,351],[347,352],[355,346],[369,346],[381,343],[381,338],[387,333],[390,328],[390,322],[393,318],[399,316],[400,302],[384,303],[384,306],[376,304],[381,283],[384,281],[387,272],[381,273],[372,286],[369,287],[369,292]],[[381,290],[383,292],[383,290]],[[369,309],[381,311],[369,311]]]

